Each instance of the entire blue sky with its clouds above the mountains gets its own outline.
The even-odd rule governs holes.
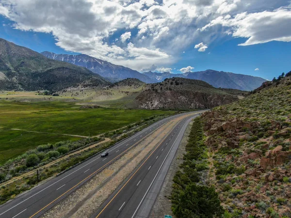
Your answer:
[[[0,38],[138,71],[188,67],[272,79],[291,71],[290,24],[289,0],[0,2]]]

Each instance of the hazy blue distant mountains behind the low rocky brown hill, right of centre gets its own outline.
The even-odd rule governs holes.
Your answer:
[[[155,80],[156,82],[161,82],[166,78],[181,77],[202,80],[208,82],[210,85],[216,88],[221,87],[226,89],[238,89],[244,91],[254,90],[258,88],[263,82],[267,81],[266,79],[259,77],[216,70],[187,72],[184,74],[170,74],[169,72],[156,73],[149,71],[144,72],[144,74],[149,78]]]

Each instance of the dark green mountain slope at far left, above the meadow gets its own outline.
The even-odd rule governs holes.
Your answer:
[[[99,86],[110,82],[74,64],[48,59],[29,48],[0,39],[0,90],[51,90]]]

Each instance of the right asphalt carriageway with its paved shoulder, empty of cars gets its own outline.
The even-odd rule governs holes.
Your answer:
[[[174,145],[179,144],[187,124],[196,116],[198,115],[181,120],[91,218],[147,218],[162,187],[163,180],[156,181],[156,179],[161,173],[162,167],[165,167],[162,172],[165,176],[172,162],[170,160],[167,162],[167,166],[164,166],[166,159],[171,152],[173,153],[172,158],[174,157],[178,148],[176,146],[176,150],[172,151]],[[156,187],[155,192],[149,193],[150,188],[155,186],[159,187]],[[147,195],[152,200],[151,203],[146,203],[145,208],[140,208]]]

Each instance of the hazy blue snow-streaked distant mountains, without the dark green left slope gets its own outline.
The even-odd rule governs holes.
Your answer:
[[[55,54],[49,51],[41,52],[41,54],[53,60],[69,62],[78,66],[86,67],[111,82],[116,82],[125,78],[137,78],[146,83],[155,83],[162,82],[166,78],[181,77],[202,80],[208,82],[216,88],[221,87],[226,89],[251,91],[258,88],[263,82],[267,81],[266,79],[259,77],[215,70],[187,72],[183,74],[171,74],[169,72],[157,73],[151,71],[139,73],[138,71],[132,70],[128,67],[115,65],[85,54]]]

